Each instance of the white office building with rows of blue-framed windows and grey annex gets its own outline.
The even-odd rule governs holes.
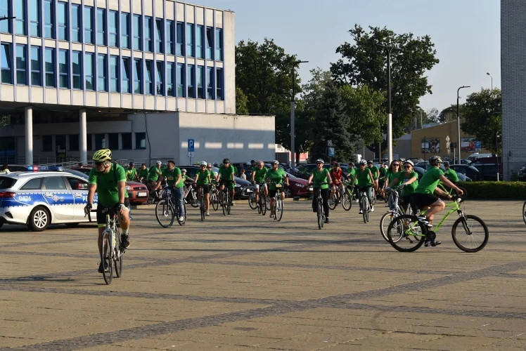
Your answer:
[[[108,147],[122,159],[147,159],[144,150],[177,159],[175,140],[244,148],[259,126],[267,146],[255,152],[274,154],[274,118],[235,114],[233,12],[172,0],[0,0],[4,15],[13,18],[0,20],[0,158],[86,161]],[[188,126],[199,133],[185,136]]]

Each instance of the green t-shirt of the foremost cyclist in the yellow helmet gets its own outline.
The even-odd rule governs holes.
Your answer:
[[[126,181],[126,172],[120,164],[112,163],[108,173],[97,172],[94,167],[89,171],[88,181],[97,185],[98,204],[112,207],[119,203],[117,183]],[[128,197],[128,192],[124,191],[124,197]]]

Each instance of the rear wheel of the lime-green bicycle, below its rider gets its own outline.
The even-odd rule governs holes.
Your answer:
[[[398,216],[387,227],[387,239],[397,251],[413,252],[424,243],[425,227],[416,216]]]

